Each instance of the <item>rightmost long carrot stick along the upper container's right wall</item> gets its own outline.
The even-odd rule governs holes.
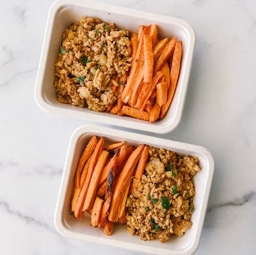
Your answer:
[[[161,108],[160,119],[164,117],[164,115],[168,111],[170,104],[172,102],[172,98],[173,98],[173,95],[177,86],[177,81],[179,78],[181,56],[182,56],[182,46],[180,43],[175,43],[172,67],[170,71],[170,79],[171,79],[170,88],[168,90],[167,101]]]

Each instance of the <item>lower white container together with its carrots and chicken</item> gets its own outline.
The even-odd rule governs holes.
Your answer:
[[[213,169],[200,146],[81,127],[70,140],[56,228],[61,235],[136,251],[191,254]]]

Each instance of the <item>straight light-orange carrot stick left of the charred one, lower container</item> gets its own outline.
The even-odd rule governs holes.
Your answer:
[[[90,180],[90,185],[88,187],[88,192],[84,200],[83,211],[90,208],[90,205],[92,204],[92,201],[96,196],[97,187],[100,180],[100,174],[103,170],[103,167],[105,166],[108,155],[109,155],[108,151],[102,151],[102,153],[100,154],[99,160],[97,161],[95,169],[93,170],[92,178]]]

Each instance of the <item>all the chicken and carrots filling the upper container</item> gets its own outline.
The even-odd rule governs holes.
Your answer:
[[[61,103],[154,122],[175,93],[182,42],[158,38],[157,26],[138,33],[83,17],[62,36],[54,86]]]

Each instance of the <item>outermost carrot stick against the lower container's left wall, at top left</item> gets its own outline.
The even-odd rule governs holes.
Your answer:
[[[93,137],[90,139],[89,143],[86,145],[86,148],[83,151],[83,154],[81,158],[79,159],[77,171],[76,171],[76,187],[80,187],[80,177],[81,177],[81,172],[83,170],[84,164],[90,157],[90,155],[93,153],[93,150],[95,149],[95,146],[97,144],[97,137],[93,135]]]

